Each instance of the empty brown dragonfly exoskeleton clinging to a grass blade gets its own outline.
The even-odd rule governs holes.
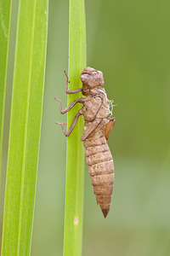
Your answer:
[[[65,131],[64,123],[56,122],[56,124],[61,125],[65,137],[68,137],[74,129],[78,117],[84,116],[85,123],[81,141],[85,148],[94,194],[104,217],[106,217],[111,207],[114,184],[113,158],[106,141],[115,125],[115,119],[110,117],[110,102],[105,89],[102,88],[104,85],[103,73],[92,67],[86,67],[82,71],[80,79],[82,80],[82,88],[68,90],[68,77],[66,75],[65,92],[74,94],[82,91],[82,95],[86,97],[77,99],[65,109],[62,109],[61,101],[56,97],[55,99],[59,102],[60,113],[68,112],[77,102],[82,103],[83,107],[79,109],[68,131]]]

